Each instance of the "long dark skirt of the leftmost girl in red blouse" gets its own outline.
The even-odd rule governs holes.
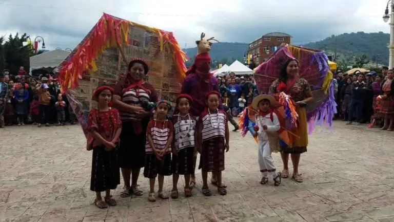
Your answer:
[[[95,146],[93,148],[90,190],[95,192],[114,190],[118,184],[121,184],[121,174],[117,160],[117,149],[105,151],[105,146]]]

